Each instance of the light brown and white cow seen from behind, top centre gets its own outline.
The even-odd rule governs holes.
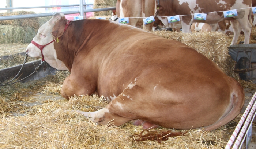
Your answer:
[[[151,31],[153,23],[145,25],[143,18],[154,16],[157,11],[155,0],[117,0],[117,17],[129,17],[128,25]],[[142,18],[143,17],[143,18]]]

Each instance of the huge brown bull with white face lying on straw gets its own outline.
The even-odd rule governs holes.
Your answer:
[[[107,99],[101,110],[78,111],[98,124],[141,120],[145,129],[213,130],[244,105],[240,84],[195,49],[114,21],[70,22],[56,13],[26,51],[70,71],[61,88],[64,98],[97,92]]]

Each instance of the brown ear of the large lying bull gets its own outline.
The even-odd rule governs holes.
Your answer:
[[[61,17],[61,19],[58,20],[53,26],[51,33],[55,41],[57,38],[63,35],[66,24],[68,24],[68,20],[65,19],[65,17]]]

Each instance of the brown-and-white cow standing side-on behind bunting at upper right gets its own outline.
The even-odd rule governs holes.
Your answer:
[[[252,6],[252,0],[209,0],[207,2],[205,0],[159,0],[159,3],[160,5],[157,6],[159,19],[167,21],[165,16],[183,15],[180,16],[182,32],[191,32],[190,25],[193,22],[208,23],[215,31],[218,22],[230,20],[234,30],[231,45],[236,44],[241,28],[245,34],[245,44],[249,43],[252,28],[251,8],[249,7]],[[233,9],[237,9],[238,16],[224,18],[222,11]],[[207,13],[206,20],[193,20],[194,13]]]

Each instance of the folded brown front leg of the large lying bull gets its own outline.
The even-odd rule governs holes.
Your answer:
[[[85,79],[85,77],[79,77],[74,75],[69,75],[63,82],[61,88],[62,97],[69,99],[69,97],[74,95],[91,95],[95,93],[97,89],[97,81],[93,79]]]

